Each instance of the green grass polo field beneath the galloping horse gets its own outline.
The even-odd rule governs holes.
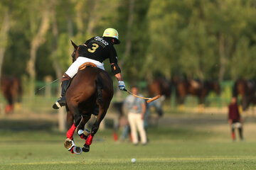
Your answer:
[[[0,169],[256,169],[255,118],[245,118],[244,142],[230,140],[225,118],[169,115],[149,128],[146,146],[114,142],[112,130],[100,130],[81,155],[65,149],[54,122],[1,118]],[[75,142],[84,144],[77,135]]]

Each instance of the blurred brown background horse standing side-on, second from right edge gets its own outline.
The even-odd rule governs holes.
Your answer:
[[[187,95],[198,97],[198,104],[204,104],[210,91],[220,94],[220,85],[215,81],[181,80],[176,82],[176,103],[182,105]]]

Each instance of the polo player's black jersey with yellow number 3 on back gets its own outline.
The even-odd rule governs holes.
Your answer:
[[[79,57],[87,57],[99,62],[109,58],[110,63],[117,64],[117,52],[114,50],[113,42],[110,38],[96,36],[87,40],[85,45],[87,45],[85,50],[79,49]]]

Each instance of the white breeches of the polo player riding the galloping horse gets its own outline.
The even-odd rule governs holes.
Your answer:
[[[101,63],[101,62],[98,62],[96,60],[92,60],[92,59],[89,59],[86,57],[78,57],[77,60],[75,60],[75,62],[73,62],[73,64],[70,65],[70,67],[68,68],[67,72],[65,72],[65,74],[68,74],[68,76],[70,78],[73,78],[75,76],[75,74],[78,73],[78,68],[85,62],[92,62],[98,68],[105,70],[104,63]]]

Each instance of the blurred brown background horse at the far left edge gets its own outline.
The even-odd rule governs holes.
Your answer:
[[[5,107],[6,113],[14,110],[14,103],[21,103],[22,87],[21,81],[14,77],[1,78],[1,92],[8,104]]]

